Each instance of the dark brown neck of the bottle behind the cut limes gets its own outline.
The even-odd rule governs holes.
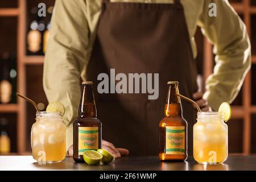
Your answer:
[[[80,118],[96,118],[97,110],[94,102],[92,85],[82,85],[82,95],[79,106]]]

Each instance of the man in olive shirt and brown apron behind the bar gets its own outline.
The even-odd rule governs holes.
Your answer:
[[[217,16],[209,15],[210,3],[215,3]],[[198,92],[196,82],[197,26],[217,55],[204,94]],[[94,82],[102,137],[109,141],[104,147],[113,153],[118,152],[114,144],[128,148],[131,155],[156,155],[167,81],[179,81],[180,93],[196,100],[203,110],[217,110],[221,102],[234,100],[250,63],[246,27],[225,0],[56,0],[43,83],[48,101],[66,107],[67,149],[73,142],[81,77]],[[111,70],[127,77],[158,73],[158,97],[150,100],[142,92],[99,93],[98,75],[106,73],[110,79]],[[182,107],[192,151],[196,110],[187,102]]]

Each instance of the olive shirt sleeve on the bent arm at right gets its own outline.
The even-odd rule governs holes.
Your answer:
[[[217,16],[210,17],[209,3],[215,3]],[[197,24],[213,44],[216,65],[207,78],[203,98],[213,110],[221,102],[232,102],[251,66],[251,46],[246,26],[226,0],[204,1]]]

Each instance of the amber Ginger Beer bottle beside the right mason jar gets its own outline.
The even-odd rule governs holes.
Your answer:
[[[168,82],[164,118],[159,122],[159,159],[187,159],[187,121],[183,118],[177,81]]]

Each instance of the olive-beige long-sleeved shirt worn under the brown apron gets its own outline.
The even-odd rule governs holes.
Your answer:
[[[173,0],[110,0],[111,2],[173,3]],[[67,148],[73,143],[72,123],[78,116],[80,77],[86,80],[88,64],[102,0],[56,0],[44,62],[43,85],[49,102],[65,106]],[[209,3],[217,5],[217,16],[208,14]],[[221,102],[232,102],[251,65],[250,40],[245,24],[225,0],[181,0],[189,37],[196,57],[194,35],[200,26],[214,45],[216,65],[206,82],[205,100],[213,110]],[[164,42],[163,42],[164,43]],[[171,50],[170,50],[171,51]],[[157,61],[156,61],[156,64]]]

